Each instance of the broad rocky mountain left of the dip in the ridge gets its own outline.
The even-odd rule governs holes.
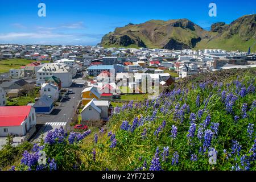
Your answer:
[[[193,48],[207,31],[188,19],[150,20],[142,24],[129,23],[106,34],[102,46],[130,46],[148,48]]]

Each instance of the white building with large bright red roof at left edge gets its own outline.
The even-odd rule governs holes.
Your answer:
[[[7,137],[9,134],[24,136],[35,125],[36,114],[33,107],[0,107],[0,137]]]

